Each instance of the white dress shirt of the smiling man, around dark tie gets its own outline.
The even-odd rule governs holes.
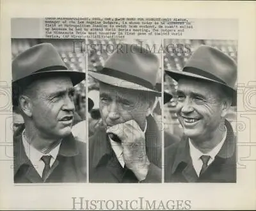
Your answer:
[[[203,161],[202,161],[202,159],[200,159],[200,157],[202,155],[209,155],[210,159],[209,159],[208,164],[207,164],[207,166],[209,166],[214,161],[215,156],[218,154],[218,152],[220,152],[221,146],[224,144],[226,136],[227,136],[227,128],[225,127],[225,135],[223,136],[223,139],[221,140],[220,143],[218,143],[218,145],[216,145],[208,153],[202,153],[200,150],[195,148],[195,146],[193,145],[193,143],[191,143],[191,140],[189,139],[189,152],[190,152],[193,167],[196,171],[197,176],[200,175],[200,171],[201,171],[202,166],[203,166]]]

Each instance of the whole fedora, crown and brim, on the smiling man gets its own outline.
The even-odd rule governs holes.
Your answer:
[[[175,81],[181,78],[193,78],[220,84],[232,97],[232,105],[236,105],[236,61],[214,47],[200,45],[182,71],[165,70],[165,72]]]

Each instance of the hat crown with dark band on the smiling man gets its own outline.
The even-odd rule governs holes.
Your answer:
[[[191,72],[191,68],[196,68]],[[234,88],[237,79],[237,64],[234,59],[220,50],[200,45],[184,66],[184,72],[191,72]]]

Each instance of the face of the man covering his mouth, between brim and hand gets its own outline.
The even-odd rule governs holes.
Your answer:
[[[111,127],[118,123],[135,120],[141,130],[149,108],[149,100],[142,96],[145,93],[110,86],[100,82],[100,114],[104,125]]]

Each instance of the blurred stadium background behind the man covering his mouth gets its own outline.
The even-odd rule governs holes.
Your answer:
[[[106,59],[115,51],[116,45],[121,43],[136,44],[142,47],[155,47],[156,56],[159,59],[159,71],[157,74],[157,87],[161,89],[162,72],[161,59],[163,54],[157,53],[161,40],[141,40],[141,39],[124,39],[124,40],[88,40],[87,52],[88,52],[88,70],[99,71],[104,66]],[[160,90],[161,91],[161,90]],[[89,136],[92,136],[97,127],[101,123],[99,113],[99,84],[92,77],[88,77],[88,97],[92,98],[94,106],[88,115],[88,132]],[[161,97],[157,98],[152,113],[156,122],[161,125]]]

